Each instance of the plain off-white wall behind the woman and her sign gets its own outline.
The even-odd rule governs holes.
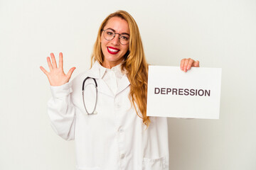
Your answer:
[[[169,118],[170,169],[255,170],[255,0],[0,0],[0,169],[75,169],[74,142],[50,128],[39,67],[63,52],[73,77],[89,69],[97,29],[118,9],[137,21],[150,64],[222,68],[219,120]]]

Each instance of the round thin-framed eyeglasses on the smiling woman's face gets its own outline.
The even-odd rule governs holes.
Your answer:
[[[114,33],[114,30],[111,30],[110,28],[106,29],[106,30],[103,30],[103,37],[106,40],[113,40],[114,36],[116,34],[119,34],[119,33]],[[127,45],[129,43],[129,35],[126,34],[126,33],[119,34],[119,42],[122,45]]]

